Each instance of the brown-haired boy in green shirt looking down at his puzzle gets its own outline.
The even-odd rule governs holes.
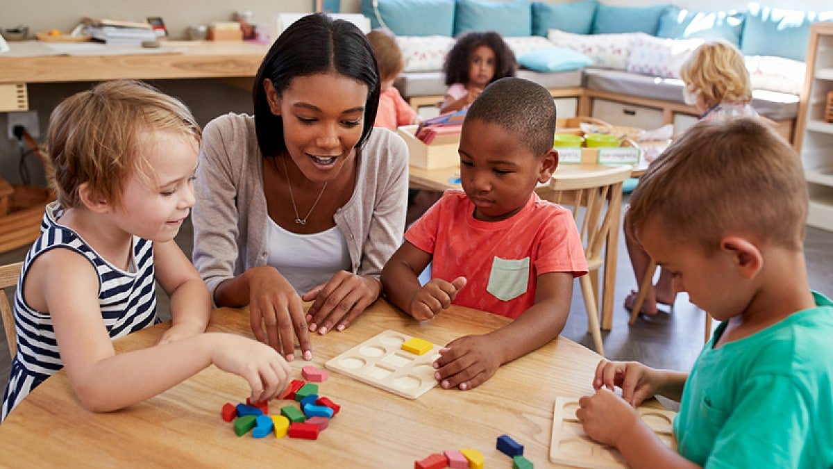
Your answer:
[[[721,324],[691,373],[601,361],[576,416],[631,467],[833,466],[833,303],[810,290],[801,160],[761,119],[702,120],[648,168],[631,223]],[[621,397],[611,390],[621,387]],[[680,400],[677,454],[633,406]]]

